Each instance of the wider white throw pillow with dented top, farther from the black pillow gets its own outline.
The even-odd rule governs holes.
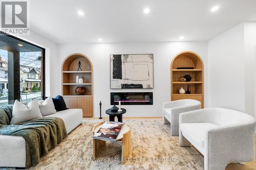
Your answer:
[[[40,117],[42,115],[37,98],[29,102],[27,106],[17,100],[14,102],[11,124],[19,124]]]

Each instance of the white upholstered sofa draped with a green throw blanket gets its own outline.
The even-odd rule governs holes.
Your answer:
[[[59,117],[70,133],[82,123],[81,109],[67,109],[46,117]],[[0,135],[0,167],[25,167],[26,142],[23,137]]]

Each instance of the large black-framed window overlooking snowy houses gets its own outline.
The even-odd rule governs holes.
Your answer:
[[[45,49],[0,32],[0,106],[45,95]]]

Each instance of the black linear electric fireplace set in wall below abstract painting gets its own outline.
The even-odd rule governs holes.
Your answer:
[[[153,105],[153,92],[111,92],[111,105]]]

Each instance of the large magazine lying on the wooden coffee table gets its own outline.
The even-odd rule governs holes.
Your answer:
[[[94,139],[116,141],[124,123],[122,122],[105,122],[97,133],[94,134]]]

